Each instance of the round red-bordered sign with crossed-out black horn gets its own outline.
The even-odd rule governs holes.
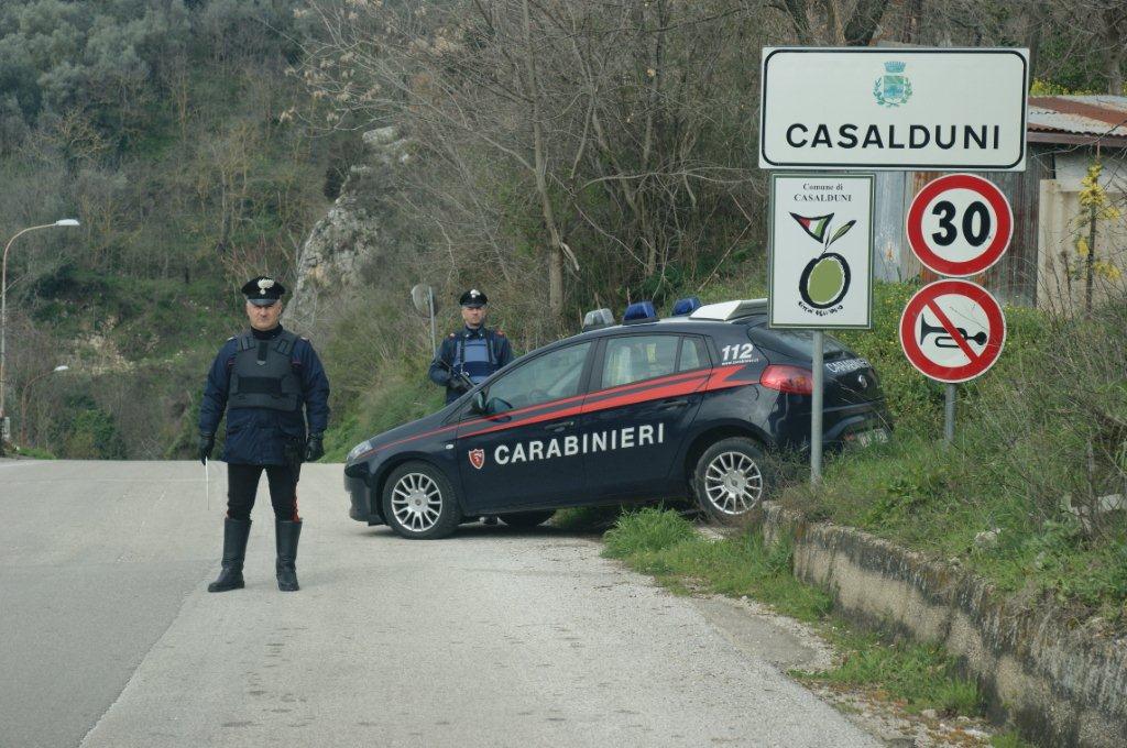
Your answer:
[[[921,288],[900,315],[900,346],[924,375],[948,384],[986,372],[1005,345],[997,300],[969,280],[937,280]]]

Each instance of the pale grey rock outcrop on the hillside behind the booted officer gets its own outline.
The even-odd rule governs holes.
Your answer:
[[[298,257],[293,295],[283,323],[311,330],[347,301],[363,280],[362,270],[394,252],[387,231],[387,205],[393,199],[393,171],[411,160],[410,141],[394,127],[364,133],[365,162],[353,166],[340,196],[317,222]]]

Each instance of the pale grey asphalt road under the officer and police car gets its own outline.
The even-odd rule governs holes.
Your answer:
[[[0,461],[0,748],[875,746],[780,675],[786,631],[678,598],[591,538],[403,541],[307,466],[274,582],[265,480],[245,590],[195,463]],[[719,607],[718,607],[719,605]]]

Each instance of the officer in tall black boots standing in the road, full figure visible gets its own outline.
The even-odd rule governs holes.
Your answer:
[[[309,340],[278,323],[284,293],[281,283],[266,276],[242,286],[250,329],[230,338],[215,356],[199,406],[199,461],[204,463],[215,447],[215,430],[227,410],[223,569],[207,587],[210,593],[243,586],[250,509],[264,470],[274,505],[278,589],[299,589],[298,479],[303,461],[325,455],[329,380]]]

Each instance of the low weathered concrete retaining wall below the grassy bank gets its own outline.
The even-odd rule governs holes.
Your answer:
[[[995,720],[1040,746],[1127,746],[1127,640],[1045,602],[1002,599],[982,579],[868,533],[764,508],[764,537],[793,542],[796,577],[862,624],[942,643]]]

